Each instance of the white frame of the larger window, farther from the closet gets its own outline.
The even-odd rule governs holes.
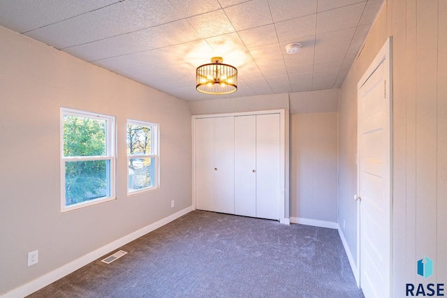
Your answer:
[[[64,114],[77,117],[88,117],[91,119],[105,120],[105,155],[104,156],[64,156]],[[75,110],[68,107],[61,107],[60,109],[60,129],[61,129],[61,212],[72,211],[83,207],[100,204],[116,199],[116,174],[115,174],[115,117],[105,114],[98,114],[94,112],[86,112],[82,110]],[[68,161],[109,161],[108,167],[108,188],[110,193],[103,198],[97,198],[86,202],[80,202],[66,206],[66,168],[65,163]]]

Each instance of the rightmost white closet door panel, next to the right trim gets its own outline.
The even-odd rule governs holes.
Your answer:
[[[256,115],[256,217],[279,219],[280,116]]]

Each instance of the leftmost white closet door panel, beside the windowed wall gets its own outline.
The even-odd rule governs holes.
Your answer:
[[[214,119],[196,119],[196,209],[214,211]]]

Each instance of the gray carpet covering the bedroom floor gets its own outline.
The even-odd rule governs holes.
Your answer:
[[[332,229],[192,211],[120,249],[29,297],[363,297]]]

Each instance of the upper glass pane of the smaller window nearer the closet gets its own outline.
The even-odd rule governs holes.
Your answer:
[[[127,155],[150,155],[152,127],[127,124]]]

